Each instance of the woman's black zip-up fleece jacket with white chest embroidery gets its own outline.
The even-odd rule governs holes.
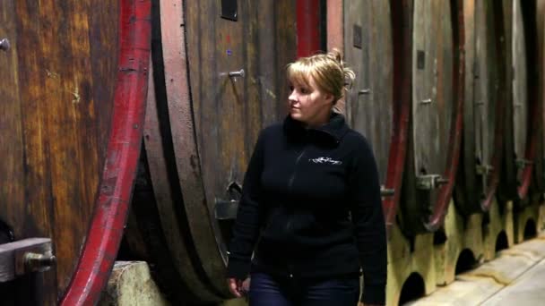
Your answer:
[[[376,162],[342,115],[306,129],[288,116],[259,135],[244,179],[228,276],[364,276],[385,303],[386,239]],[[257,246],[255,248],[255,243]],[[252,260],[252,253],[254,258]]]

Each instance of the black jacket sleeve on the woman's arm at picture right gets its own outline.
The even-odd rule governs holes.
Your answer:
[[[359,264],[364,277],[361,301],[366,304],[385,304],[385,218],[376,161],[366,140],[359,143],[353,161],[349,172],[349,197]]]

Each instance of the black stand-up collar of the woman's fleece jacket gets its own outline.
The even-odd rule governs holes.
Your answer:
[[[306,136],[313,134],[320,139],[332,140],[334,143],[339,143],[342,137],[349,131],[349,127],[344,120],[344,116],[337,113],[332,113],[329,122],[316,128],[305,128],[305,125],[287,115],[284,119],[284,131],[288,136]]]

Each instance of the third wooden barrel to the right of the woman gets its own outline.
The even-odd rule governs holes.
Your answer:
[[[466,216],[487,211],[499,183],[506,104],[500,2],[464,1],[463,145],[455,204]]]

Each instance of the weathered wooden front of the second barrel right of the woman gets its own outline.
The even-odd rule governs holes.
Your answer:
[[[415,175],[443,174],[454,114],[449,2],[414,2],[412,115]]]

